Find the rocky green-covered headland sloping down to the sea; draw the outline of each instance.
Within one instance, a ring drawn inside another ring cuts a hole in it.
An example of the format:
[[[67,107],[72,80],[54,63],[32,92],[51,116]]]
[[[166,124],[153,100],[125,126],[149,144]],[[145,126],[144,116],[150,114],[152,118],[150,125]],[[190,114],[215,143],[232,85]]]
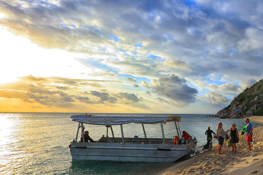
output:
[[[263,79],[244,89],[234,97],[231,103],[219,110],[211,117],[219,118],[244,118],[247,116],[263,116]]]

